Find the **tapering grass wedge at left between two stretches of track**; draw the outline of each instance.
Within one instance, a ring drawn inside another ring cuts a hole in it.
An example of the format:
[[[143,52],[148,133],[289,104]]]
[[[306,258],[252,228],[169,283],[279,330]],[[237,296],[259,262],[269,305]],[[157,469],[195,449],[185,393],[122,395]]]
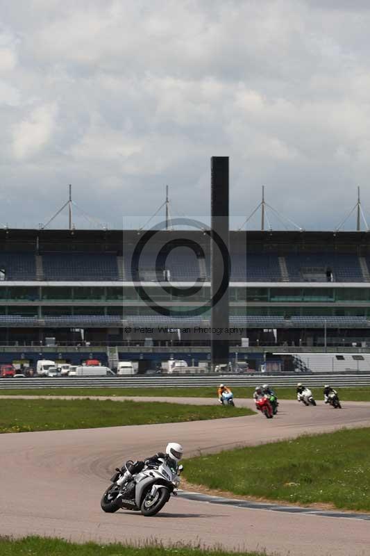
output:
[[[1,400],[0,433],[153,425],[252,415],[246,408],[114,402],[112,400]]]

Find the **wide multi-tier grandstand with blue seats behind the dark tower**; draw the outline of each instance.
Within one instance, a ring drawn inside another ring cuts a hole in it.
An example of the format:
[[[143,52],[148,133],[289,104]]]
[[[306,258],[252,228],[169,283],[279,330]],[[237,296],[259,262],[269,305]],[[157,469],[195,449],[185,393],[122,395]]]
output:
[[[48,342],[74,362],[107,346],[148,366],[209,359],[209,335],[196,327],[210,326],[210,238],[149,235],[132,261],[144,231],[1,230],[1,361],[35,359]],[[230,259],[230,326],[240,329],[230,354],[257,361],[276,346],[367,350],[366,232],[231,231]]]

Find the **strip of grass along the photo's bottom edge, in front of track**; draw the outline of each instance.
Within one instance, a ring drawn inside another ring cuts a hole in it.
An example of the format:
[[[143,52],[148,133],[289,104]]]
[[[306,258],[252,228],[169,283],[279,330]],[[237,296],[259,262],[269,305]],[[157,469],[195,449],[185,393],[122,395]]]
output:
[[[44,539],[26,537],[12,540],[0,537],[1,556],[265,556],[255,552],[224,552],[223,550],[201,550],[174,546],[165,548],[158,545],[125,546],[120,543],[85,543],[77,544],[61,539]]]

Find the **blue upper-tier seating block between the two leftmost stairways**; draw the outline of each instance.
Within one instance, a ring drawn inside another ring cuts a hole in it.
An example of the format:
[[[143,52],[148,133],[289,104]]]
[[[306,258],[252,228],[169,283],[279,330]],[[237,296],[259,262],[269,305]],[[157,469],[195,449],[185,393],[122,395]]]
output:
[[[45,280],[113,281],[118,280],[117,257],[111,254],[44,254]]]

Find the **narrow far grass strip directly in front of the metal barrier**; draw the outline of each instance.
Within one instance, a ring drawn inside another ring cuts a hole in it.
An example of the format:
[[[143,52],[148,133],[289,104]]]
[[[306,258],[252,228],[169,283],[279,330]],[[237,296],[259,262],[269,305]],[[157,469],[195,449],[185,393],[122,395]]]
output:
[[[16,379],[15,379],[16,380]],[[32,384],[32,380],[31,384]],[[35,379],[37,381],[37,379]],[[60,379],[68,380],[68,379]],[[122,379],[124,381],[124,379]],[[297,378],[298,382],[298,378]],[[244,386],[237,386],[233,388],[232,382],[226,382],[230,388],[233,389],[235,398],[252,398],[254,388],[246,388]],[[106,396],[119,396],[119,395],[151,395],[155,397],[171,396],[178,398],[181,396],[190,398],[216,398],[217,388],[219,383],[215,382],[215,386],[205,388],[48,388],[48,389],[1,389],[0,395],[106,395]],[[258,383],[256,383],[256,386]],[[1,386],[1,379],[0,379]],[[274,387],[274,383],[271,382]],[[335,388],[335,384],[332,384]],[[317,400],[323,399],[323,387],[311,389],[314,398]],[[339,398],[344,402],[370,402],[370,387],[361,388],[337,388]],[[296,400],[296,389],[293,388],[277,388],[276,393],[280,400]]]

